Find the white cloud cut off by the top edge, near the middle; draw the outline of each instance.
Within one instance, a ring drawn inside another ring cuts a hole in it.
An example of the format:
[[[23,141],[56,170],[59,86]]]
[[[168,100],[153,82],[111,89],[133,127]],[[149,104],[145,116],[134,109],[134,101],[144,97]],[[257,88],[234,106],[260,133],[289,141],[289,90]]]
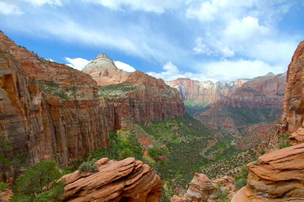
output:
[[[131,10],[143,10],[146,12],[163,13],[167,9],[177,8],[180,0],[82,0],[100,4],[114,10],[123,10],[129,7]]]

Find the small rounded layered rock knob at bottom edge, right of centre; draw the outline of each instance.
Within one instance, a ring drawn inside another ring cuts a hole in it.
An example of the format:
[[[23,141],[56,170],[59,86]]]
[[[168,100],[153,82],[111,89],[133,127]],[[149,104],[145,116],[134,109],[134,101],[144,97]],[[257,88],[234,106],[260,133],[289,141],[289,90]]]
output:
[[[190,187],[184,195],[174,195],[172,202],[205,202],[214,193],[214,186],[209,178],[202,173],[195,173],[193,180],[189,183]]]

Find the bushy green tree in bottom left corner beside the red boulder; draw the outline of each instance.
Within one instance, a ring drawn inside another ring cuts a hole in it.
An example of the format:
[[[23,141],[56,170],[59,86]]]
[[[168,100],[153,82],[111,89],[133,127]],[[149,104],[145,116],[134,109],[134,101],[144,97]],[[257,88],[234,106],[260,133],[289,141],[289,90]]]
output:
[[[65,180],[54,161],[41,161],[16,180],[10,202],[62,201]]]

